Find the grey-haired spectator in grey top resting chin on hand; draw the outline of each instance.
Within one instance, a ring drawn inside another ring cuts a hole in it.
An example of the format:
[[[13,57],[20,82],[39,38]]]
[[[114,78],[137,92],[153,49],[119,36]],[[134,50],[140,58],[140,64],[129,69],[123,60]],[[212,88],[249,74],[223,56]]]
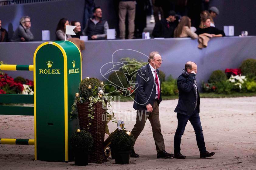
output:
[[[34,39],[34,35],[30,31],[31,20],[29,16],[23,16],[20,18],[19,27],[13,33],[12,42],[20,42],[20,41],[32,41]]]

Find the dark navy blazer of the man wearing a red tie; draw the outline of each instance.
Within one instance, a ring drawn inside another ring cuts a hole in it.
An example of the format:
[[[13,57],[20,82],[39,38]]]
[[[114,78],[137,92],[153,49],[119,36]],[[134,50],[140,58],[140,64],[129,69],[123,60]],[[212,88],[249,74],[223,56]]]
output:
[[[134,97],[133,108],[136,110],[147,110],[146,105],[150,104],[153,107],[155,97],[156,97],[156,83],[154,76],[152,74],[151,68],[149,64],[141,67],[136,75],[136,94]],[[159,70],[157,69],[157,75],[159,76]],[[159,80],[160,84],[160,98],[158,103],[162,101],[161,95],[161,80]]]

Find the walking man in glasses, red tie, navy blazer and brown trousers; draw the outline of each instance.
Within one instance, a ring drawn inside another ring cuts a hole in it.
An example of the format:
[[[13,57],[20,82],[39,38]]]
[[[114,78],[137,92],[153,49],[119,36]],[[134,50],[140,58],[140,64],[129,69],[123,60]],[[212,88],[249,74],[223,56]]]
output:
[[[158,108],[159,103],[162,101],[162,96],[161,80],[157,68],[161,66],[162,61],[161,55],[158,52],[151,52],[148,59],[149,63],[141,67],[137,72],[136,94],[133,102],[133,108],[137,110],[137,118],[131,134],[133,134],[136,141],[147,119],[149,119],[157,149],[157,158],[169,159],[173,157],[173,154],[165,151]],[[134,158],[140,157],[133,149],[130,156]]]

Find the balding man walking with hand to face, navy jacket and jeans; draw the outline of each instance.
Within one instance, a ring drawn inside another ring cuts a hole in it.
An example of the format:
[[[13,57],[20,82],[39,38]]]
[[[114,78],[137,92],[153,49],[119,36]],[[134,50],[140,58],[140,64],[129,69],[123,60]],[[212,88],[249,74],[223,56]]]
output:
[[[200,158],[213,156],[214,152],[207,152],[203,137],[202,125],[199,116],[200,96],[197,88],[195,75],[197,65],[194,62],[187,62],[182,70],[182,75],[178,77],[177,86],[179,90],[178,105],[174,112],[177,113],[178,127],[174,136],[174,158],[185,159],[186,156],[180,153],[181,137],[188,120],[195,130],[197,146],[200,151]]]

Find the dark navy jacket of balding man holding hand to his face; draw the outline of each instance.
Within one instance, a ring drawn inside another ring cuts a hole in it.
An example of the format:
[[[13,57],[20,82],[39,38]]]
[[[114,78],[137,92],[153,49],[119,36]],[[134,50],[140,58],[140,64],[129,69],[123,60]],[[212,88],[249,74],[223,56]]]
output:
[[[174,112],[184,115],[192,115],[195,109],[195,91],[193,89],[195,74],[182,74],[178,77],[177,86],[179,90],[179,101]],[[198,113],[200,112],[200,96],[197,88],[197,106]]]

